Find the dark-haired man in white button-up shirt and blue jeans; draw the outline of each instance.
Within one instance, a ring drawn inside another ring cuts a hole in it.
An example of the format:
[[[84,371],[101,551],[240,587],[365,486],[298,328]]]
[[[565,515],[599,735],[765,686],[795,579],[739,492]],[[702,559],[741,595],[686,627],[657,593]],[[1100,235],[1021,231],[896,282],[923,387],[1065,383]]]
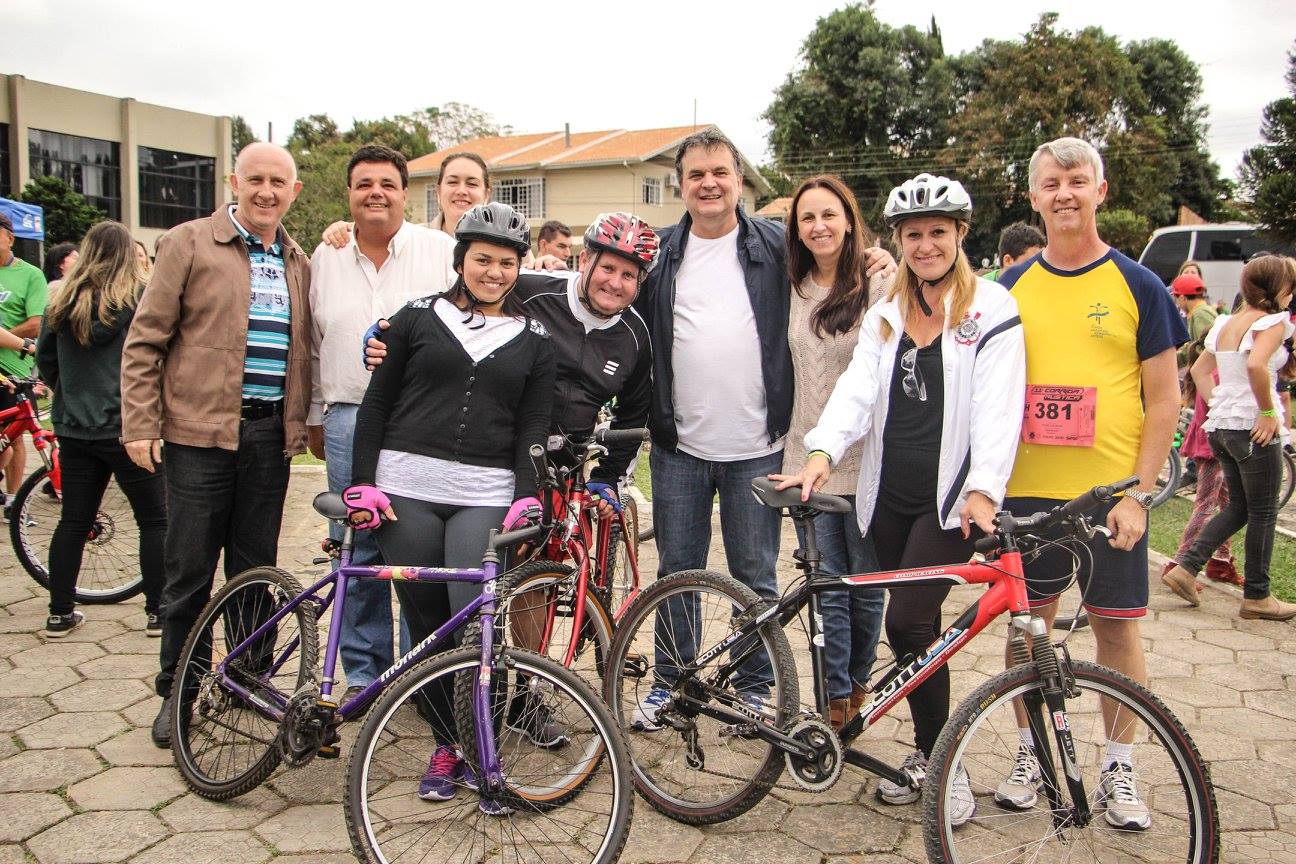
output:
[[[355,231],[341,249],[321,242],[311,255],[314,326],[306,431],[311,453],[328,466],[333,492],[351,483],[355,412],[369,383],[360,354],[365,329],[411,299],[445,291],[455,280],[455,240],[404,219],[410,185],[404,157],[385,146],[362,146],[346,176]],[[329,532],[341,540],[336,526]],[[358,531],[351,563],[377,558],[372,534]],[[345,698],[391,666],[390,583],[355,579],[347,585],[340,652],[349,690]]]

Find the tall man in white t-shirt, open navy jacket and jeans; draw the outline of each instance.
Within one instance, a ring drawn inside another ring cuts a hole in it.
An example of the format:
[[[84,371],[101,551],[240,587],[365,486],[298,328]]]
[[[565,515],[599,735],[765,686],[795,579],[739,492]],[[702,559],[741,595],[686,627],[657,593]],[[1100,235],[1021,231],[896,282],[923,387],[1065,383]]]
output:
[[[719,131],[684,139],[675,171],[687,214],[660,232],[657,268],[635,303],[653,339],[657,575],[706,566],[718,495],[730,573],[776,598],[779,513],[756,500],[752,481],[781,469],[792,417],[785,228],[741,210],[743,162]],[[877,269],[894,267],[881,250],[871,258]],[[674,667],[691,655],[689,617],[671,618],[661,624],[675,644],[658,652],[654,685],[635,716],[640,729],[658,727]],[[737,688],[759,702],[769,689],[767,658],[753,657]]]

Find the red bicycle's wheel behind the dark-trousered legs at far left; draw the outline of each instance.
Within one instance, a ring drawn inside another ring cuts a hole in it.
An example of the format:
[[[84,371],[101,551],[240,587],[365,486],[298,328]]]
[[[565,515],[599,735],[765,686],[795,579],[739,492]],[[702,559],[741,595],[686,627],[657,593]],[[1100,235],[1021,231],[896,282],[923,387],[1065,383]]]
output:
[[[44,465],[23,481],[13,497],[9,539],[22,569],[43,588],[49,588],[49,544],[62,516],[64,503]],[[86,540],[76,575],[78,604],[115,604],[144,589],[140,574],[140,527],[126,494],[115,479],[108,481],[95,526]]]

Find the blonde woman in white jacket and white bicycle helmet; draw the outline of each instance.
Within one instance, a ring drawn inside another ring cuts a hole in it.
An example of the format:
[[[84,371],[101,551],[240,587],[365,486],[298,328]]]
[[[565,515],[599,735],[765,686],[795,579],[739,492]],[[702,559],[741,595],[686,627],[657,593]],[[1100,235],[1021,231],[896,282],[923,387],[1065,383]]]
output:
[[[898,570],[967,560],[973,529],[993,530],[1021,430],[1025,348],[1016,302],[977,279],[963,251],[972,199],[962,184],[920,174],[892,190],[885,216],[902,253],[896,282],[864,315],[850,365],[805,438],[805,468],[781,486],[800,483],[809,497],[863,439],[859,527],[883,570]],[[947,593],[890,592],[886,640],[897,658],[936,640]],[[879,784],[884,802],[918,801],[949,702],[947,668],[908,696],[916,751],[902,767],[907,784]],[[976,806],[962,769],[955,789],[962,824]]]

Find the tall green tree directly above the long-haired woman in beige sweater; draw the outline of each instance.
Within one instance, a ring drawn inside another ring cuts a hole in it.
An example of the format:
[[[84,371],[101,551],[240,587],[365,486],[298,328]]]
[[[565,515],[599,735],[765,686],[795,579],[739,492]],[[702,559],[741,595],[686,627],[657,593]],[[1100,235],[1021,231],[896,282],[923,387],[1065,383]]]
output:
[[[925,32],[892,27],[870,0],[816,22],[763,117],[778,171],[840,174],[876,220],[892,187],[933,167],[954,109],[934,19]]]

